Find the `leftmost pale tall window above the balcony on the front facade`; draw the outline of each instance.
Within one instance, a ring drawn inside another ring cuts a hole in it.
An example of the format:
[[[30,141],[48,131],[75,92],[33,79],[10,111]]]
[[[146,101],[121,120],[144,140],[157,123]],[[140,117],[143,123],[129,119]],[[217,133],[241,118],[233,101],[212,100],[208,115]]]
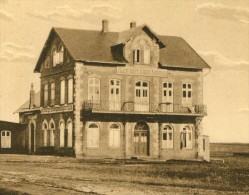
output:
[[[100,103],[100,79],[90,78],[88,80],[88,100]]]

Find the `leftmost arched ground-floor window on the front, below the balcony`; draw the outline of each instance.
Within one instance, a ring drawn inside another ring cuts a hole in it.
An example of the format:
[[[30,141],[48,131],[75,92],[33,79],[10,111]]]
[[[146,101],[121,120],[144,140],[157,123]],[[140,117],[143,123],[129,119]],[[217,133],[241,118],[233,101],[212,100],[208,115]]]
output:
[[[87,146],[99,147],[99,126],[91,123],[87,129]]]

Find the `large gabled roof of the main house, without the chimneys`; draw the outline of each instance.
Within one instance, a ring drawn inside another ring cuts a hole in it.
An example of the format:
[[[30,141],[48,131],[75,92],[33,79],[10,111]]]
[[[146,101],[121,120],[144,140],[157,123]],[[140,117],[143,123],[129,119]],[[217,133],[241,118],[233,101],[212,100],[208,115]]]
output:
[[[54,35],[57,35],[61,39],[69,54],[76,61],[126,64],[126,59],[121,57],[116,50],[120,50],[121,48],[116,48],[115,46],[124,44],[137,30],[145,31],[159,44],[159,63],[162,67],[192,69],[210,68],[210,66],[182,38],[158,36],[152,32],[147,25],[142,25],[122,32],[107,33],[95,30],[52,28],[34,71],[40,72],[40,66],[46,55],[47,46],[51,44]]]

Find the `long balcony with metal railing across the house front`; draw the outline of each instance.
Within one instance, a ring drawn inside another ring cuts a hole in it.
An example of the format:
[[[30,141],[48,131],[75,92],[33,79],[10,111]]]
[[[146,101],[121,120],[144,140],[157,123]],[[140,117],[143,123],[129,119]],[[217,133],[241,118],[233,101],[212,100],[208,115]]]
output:
[[[123,114],[207,115],[206,105],[185,106],[172,103],[141,104],[133,101],[123,103],[109,101],[93,103],[91,100],[87,100],[83,103],[83,111]]]

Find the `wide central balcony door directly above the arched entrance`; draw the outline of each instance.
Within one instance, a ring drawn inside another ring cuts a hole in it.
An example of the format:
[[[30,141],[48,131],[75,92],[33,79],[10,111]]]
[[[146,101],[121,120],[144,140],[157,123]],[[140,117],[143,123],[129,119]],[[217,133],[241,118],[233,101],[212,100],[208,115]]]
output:
[[[136,82],[135,86],[135,111],[149,111],[149,83]]]

